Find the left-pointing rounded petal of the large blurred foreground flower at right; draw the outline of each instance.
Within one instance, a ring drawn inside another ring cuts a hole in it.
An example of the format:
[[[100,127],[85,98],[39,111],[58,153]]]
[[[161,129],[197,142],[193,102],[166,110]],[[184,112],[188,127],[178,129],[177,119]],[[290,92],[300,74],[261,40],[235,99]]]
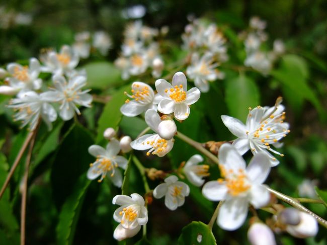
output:
[[[226,198],[227,187],[218,181],[209,181],[202,188],[202,195],[210,201],[220,201]]]

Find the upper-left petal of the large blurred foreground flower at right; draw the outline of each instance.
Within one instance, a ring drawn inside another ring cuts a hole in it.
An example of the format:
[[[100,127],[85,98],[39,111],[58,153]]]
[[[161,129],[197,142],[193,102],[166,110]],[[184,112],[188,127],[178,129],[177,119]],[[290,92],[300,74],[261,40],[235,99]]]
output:
[[[234,173],[237,173],[240,169],[244,170],[246,168],[246,162],[243,157],[238,153],[236,148],[229,143],[224,143],[220,146],[218,158],[221,165],[227,170],[233,170]]]

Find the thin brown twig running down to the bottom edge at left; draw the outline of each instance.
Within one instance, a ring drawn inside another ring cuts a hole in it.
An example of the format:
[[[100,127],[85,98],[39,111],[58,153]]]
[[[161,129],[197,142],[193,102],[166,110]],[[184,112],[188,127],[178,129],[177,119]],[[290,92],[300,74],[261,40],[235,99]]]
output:
[[[27,156],[26,156],[26,164],[25,164],[25,172],[23,176],[23,185],[22,185],[22,205],[21,205],[21,245],[25,245],[25,228],[26,228],[26,199],[27,199],[27,181],[28,181],[28,173],[30,169],[30,163],[31,163],[31,157],[33,152],[33,147],[35,143],[36,138],[36,131],[33,134],[30,148],[28,150]]]

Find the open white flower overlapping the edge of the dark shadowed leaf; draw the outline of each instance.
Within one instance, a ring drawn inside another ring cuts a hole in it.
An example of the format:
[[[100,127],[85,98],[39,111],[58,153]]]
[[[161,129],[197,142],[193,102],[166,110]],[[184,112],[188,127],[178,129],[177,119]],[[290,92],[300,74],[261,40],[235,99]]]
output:
[[[90,169],[87,173],[88,179],[94,180],[101,176],[98,182],[101,182],[106,176],[110,177],[112,183],[121,187],[123,183],[123,177],[118,167],[126,169],[128,160],[120,155],[117,155],[120,151],[119,141],[112,139],[106,149],[100,145],[91,145],[89,147],[89,153],[97,157],[93,164],[90,164]]]

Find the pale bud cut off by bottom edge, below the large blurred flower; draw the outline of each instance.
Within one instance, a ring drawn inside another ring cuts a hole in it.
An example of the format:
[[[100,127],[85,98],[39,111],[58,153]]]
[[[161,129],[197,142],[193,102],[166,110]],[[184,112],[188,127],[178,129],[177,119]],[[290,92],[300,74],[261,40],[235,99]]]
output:
[[[248,239],[252,245],[276,245],[273,231],[268,225],[256,222],[250,226]]]

